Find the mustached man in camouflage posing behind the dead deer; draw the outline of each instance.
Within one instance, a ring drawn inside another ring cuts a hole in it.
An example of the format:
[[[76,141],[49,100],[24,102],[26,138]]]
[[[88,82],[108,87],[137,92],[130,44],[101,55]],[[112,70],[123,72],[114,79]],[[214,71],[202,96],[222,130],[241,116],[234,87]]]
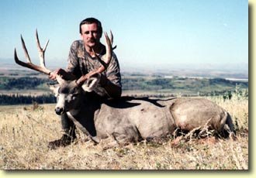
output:
[[[80,23],[79,32],[81,40],[76,40],[71,45],[67,69],[56,70],[50,74],[50,79],[54,80],[59,74],[65,80],[77,80],[78,86],[81,86],[87,80],[86,74],[101,67],[102,63],[99,62],[97,56],[102,58],[106,54],[106,46],[100,43],[102,37],[101,22],[95,18],[84,19]],[[122,85],[119,63],[115,53],[112,53],[106,70],[99,75],[99,87],[96,88],[95,93],[103,98],[119,98],[122,93]],[[61,125],[64,135],[61,139],[49,142],[50,148],[70,145],[76,138],[74,123],[67,118],[66,114],[61,115]]]

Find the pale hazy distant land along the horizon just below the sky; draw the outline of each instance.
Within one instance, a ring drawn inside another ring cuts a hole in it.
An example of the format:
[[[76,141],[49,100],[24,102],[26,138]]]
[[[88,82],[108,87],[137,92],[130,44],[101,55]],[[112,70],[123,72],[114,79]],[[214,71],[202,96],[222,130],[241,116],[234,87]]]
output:
[[[25,60],[25,59],[22,59]],[[65,68],[67,60],[46,61],[51,70]],[[29,70],[20,67],[12,58],[0,59],[0,74],[9,70]],[[33,59],[33,63],[39,60]],[[179,77],[220,77],[220,78],[248,78],[248,63],[140,63],[126,64],[119,61],[122,74],[145,74]],[[32,72],[33,70],[30,70]]]

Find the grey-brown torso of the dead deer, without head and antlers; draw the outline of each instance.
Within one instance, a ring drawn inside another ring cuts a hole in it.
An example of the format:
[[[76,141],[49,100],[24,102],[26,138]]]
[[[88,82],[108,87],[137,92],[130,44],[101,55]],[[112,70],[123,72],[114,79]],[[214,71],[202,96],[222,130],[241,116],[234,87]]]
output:
[[[83,94],[82,94],[83,95]],[[161,138],[175,129],[191,131],[209,128],[221,132],[224,125],[234,126],[230,115],[220,106],[203,98],[120,98],[99,101],[86,98],[67,111],[68,117],[95,142],[112,136],[118,142]]]

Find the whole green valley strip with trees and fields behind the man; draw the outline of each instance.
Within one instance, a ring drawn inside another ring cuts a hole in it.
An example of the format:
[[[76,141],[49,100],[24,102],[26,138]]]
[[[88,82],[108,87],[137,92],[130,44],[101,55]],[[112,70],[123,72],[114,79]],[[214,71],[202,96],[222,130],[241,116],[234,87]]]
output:
[[[19,74],[0,76],[0,104],[31,104],[34,101],[55,103],[48,84],[54,83],[42,75]],[[230,96],[232,92],[248,95],[248,82],[209,77],[165,77],[164,74],[122,75],[123,95],[155,96]]]

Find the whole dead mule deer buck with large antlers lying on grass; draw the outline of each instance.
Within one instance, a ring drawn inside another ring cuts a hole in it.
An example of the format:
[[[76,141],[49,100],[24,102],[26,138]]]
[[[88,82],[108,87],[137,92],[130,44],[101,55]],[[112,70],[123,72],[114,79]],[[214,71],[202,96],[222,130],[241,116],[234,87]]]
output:
[[[116,142],[139,142],[144,139],[162,138],[172,135],[177,129],[192,132],[209,128],[220,133],[228,130],[235,134],[230,114],[213,101],[206,98],[140,98],[123,96],[118,100],[90,98],[99,84],[99,73],[106,70],[111,59],[113,36],[107,33],[106,56],[102,67],[85,76],[87,80],[81,86],[75,80],[64,80],[57,76],[57,85],[50,87],[57,97],[55,112],[67,113],[68,118],[93,142],[112,137]],[[44,53],[49,39],[42,48],[36,30],[36,44],[40,56],[40,66],[31,62],[26,45],[22,47],[27,62],[19,60],[16,49],[14,58],[17,64],[49,75],[52,71],[45,66]],[[95,55],[97,56],[97,55]],[[98,60],[99,57],[97,57]],[[79,79],[78,79],[79,80]]]

